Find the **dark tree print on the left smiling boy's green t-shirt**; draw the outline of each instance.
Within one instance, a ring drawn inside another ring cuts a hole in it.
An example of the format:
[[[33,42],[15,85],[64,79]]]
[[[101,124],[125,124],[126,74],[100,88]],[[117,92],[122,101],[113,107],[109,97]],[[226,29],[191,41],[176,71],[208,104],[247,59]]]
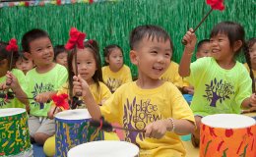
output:
[[[32,97],[34,98],[37,94],[47,91],[54,91],[54,85],[51,83],[43,84],[41,83],[35,83],[32,91]],[[32,101],[32,105],[39,106],[39,109],[43,109],[44,105],[43,103]]]

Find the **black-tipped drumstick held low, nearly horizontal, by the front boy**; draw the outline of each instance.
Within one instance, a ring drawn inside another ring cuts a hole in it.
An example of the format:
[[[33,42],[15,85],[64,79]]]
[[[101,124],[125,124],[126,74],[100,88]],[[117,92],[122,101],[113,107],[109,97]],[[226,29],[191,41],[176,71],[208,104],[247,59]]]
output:
[[[122,131],[145,132],[144,130],[125,129],[122,127],[112,126],[111,124],[109,124],[105,121],[102,121],[102,124],[100,124],[100,121],[91,120],[89,125],[92,127],[95,127],[95,128],[100,128],[100,130],[103,130],[103,131],[112,131],[113,129],[115,129],[115,130],[122,130]]]

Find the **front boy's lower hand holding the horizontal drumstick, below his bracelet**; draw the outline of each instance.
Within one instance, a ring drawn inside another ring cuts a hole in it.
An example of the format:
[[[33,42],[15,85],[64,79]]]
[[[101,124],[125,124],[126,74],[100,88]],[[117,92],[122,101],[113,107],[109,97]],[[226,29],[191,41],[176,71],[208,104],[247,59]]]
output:
[[[167,131],[167,120],[156,121],[145,128],[145,136],[153,138],[161,138]]]

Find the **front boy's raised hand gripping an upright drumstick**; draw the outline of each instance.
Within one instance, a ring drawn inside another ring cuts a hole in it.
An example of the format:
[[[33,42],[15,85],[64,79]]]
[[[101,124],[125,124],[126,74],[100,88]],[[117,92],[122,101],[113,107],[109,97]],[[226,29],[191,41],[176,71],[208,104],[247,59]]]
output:
[[[73,77],[73,93],[82,93],[83,97],[86,97],[86,95],[90,93],[89,84],[86,80],[81,78],[80,75]]]

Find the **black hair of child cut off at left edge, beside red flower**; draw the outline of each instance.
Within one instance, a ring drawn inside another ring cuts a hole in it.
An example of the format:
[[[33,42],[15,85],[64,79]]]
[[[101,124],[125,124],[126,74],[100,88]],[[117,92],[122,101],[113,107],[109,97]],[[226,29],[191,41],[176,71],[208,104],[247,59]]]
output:
[[[0,41],[0,61],[7,59],[8,61],[8,67],[11,67],[11,70],[15,67],[15,63],[17,60],[18,51],[13,51],[13,61],[12,65],[11,64],[11,58],[12,58],[12,53],[6,50],[8,43],[4,41]]]

